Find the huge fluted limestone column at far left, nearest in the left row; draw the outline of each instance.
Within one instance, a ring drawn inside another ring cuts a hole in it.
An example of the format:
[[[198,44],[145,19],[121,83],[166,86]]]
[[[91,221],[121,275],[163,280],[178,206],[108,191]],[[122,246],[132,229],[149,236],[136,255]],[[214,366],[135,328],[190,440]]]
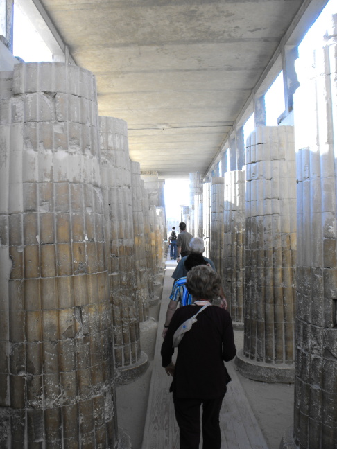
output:
[[[18,64],[1,101],[0,446],[116,448],[96,83]]]

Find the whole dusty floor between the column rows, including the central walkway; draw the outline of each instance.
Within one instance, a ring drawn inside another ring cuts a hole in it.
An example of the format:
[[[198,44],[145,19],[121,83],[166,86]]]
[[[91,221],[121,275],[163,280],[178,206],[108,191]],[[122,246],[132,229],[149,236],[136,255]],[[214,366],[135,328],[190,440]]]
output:
[[[133,449],[179,448],[173,402],[168,393],[171,378],[162,369],[160,358],[174,267],[175,261],[168,257],[161,307],[152,310],[159,326],[150,368],[132,384],[117,388],[119,425],[130,435]],[[241,349],[243,332],[234,333],[236,348]],[[293,421],[293,385],[254,382],[237,373],[233,362],[227,367],[232,382],[221,410],[222,448],[279,449],[282,434]]]

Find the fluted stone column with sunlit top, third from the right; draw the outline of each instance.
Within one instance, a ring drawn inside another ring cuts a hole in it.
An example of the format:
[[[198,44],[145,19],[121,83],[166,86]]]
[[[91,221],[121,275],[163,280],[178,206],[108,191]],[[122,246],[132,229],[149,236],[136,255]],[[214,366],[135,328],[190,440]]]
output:
[[[225,173],[223,290],[234,328],[243,329],[245,279],[245,172]]]

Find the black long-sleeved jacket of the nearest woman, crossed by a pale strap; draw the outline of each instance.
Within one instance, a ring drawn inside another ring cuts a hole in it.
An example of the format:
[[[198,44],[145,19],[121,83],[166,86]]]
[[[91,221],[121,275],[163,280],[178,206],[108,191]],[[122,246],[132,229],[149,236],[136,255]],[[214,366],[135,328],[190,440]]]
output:
[[[201,306],[184,306],[175,311],[162,344],[162,366],[171,363],[173,334]],[[236,354],[232,319],[227,310],[207,307],[197,317],[178,346],[175,375],[170,387],[177,398],[217,398],[226,392],[223,361]]]

